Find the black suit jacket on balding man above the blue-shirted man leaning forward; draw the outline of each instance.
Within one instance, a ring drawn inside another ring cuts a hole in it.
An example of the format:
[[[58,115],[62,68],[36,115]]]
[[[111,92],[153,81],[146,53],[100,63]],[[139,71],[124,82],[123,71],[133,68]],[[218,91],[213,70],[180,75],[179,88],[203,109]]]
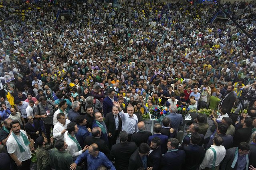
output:
[[[101,138],[86,136],[85,138],[85,146],[90,146],[91,144],[96,143],[99,146],[99,151],[103,152],[106,156],[109,156],[109,147]]]

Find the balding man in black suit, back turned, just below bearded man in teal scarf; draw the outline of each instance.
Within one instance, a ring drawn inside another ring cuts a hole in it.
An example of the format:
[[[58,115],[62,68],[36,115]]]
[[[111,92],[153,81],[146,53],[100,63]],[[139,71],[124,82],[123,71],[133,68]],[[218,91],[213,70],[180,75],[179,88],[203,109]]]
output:
[[[91,144],[96,143],[99,146],[99,151],[103,152],[106,156],[109,156],[109,147],[105,143],[105,140],[101,139],[101,128],[93,128],[92,135],[93,136],[86,136],[85,146],[90,146]]]

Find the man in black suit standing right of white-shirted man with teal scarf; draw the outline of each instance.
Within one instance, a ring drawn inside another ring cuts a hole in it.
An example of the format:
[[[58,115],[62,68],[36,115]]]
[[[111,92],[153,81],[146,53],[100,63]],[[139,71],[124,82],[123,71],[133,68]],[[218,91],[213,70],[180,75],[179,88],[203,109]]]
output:
[[[40,124],[37,120],[34,120],[32,116],[27,117],[28,123],[26,123],[25,128],[27,134],[30,135],[30,138],[36,141],[38,136],[42,135]]]

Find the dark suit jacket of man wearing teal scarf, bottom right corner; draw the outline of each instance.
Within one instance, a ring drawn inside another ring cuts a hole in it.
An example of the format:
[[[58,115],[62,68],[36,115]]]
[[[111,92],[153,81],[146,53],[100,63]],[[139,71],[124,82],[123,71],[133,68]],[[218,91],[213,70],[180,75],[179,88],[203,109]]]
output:
[[[231,168],[231,165],[232,165],[234,157],[235,157],[236,148],[237,147],[230,148],[230,149],[226,150],[226,156],[224,157],[224,159],[222,160],[222,163],[221,163],[221,170],[236,170],[237,166],[235,166],[234,168]],[[248,153],[248,156],[249,156],[249,160],[250,160],[250,152]],[[250,164],[249,164],[249,166],[250,166]]]

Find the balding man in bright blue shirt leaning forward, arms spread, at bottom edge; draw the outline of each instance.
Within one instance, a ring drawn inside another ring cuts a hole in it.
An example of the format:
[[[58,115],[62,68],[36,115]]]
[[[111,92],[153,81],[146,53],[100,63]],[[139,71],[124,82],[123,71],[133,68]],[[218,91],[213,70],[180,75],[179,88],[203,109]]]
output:
[[[97,170],[97,168],[101,165],[106,166],[110,170],[115,170],[115,166],[105,154],[99,151],[98,145],[95,143],[91,144],[88,150],[77,157],[75,162],[71,164],[70,169],[75,170],[77,164],[85,159],[87,160],[87,170]]]

